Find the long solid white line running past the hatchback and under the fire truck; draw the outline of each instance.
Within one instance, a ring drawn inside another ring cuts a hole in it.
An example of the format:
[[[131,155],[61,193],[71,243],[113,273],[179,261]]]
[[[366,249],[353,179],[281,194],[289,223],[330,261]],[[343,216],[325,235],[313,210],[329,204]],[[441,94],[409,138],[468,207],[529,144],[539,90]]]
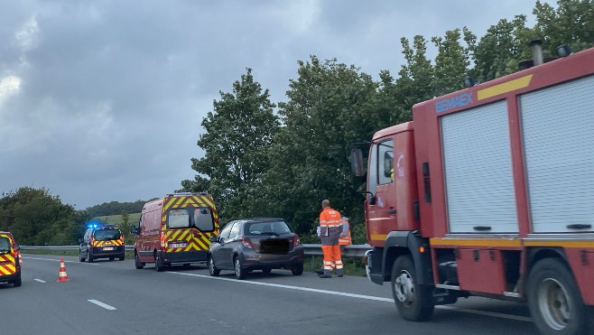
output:
[[[323,293],[323,294],[332,294],[332,295],[341,295],[341,296],[347,296],[347,297],[350,297],[350,298],[373,300],[373,301],[376,301],[376,302],[390,302],[390,303],[394,303],[394,300],[393,299],[382,298],[382,297],[377,297],[377,296],[372,296],[372,295],[345,293],[345,292],[338,292],[338,291],[327,291],[327,290],[320,290],[320,289],[316,289],[316,288],[291,286],[291,285],[283,285],[283,284],[271,284],[271,283],[251,282],[251,281],[246,281],[246,280],[237,280],[237,279],[231,279],[231,278],[213,277],[213,276],[210,276],[210,275],[188,274],[188,273],[183,273],[183,272],[168,272],[167,274],[190,275],[190,276],[193,276],[193,277],[224,280],[224,281],[227,281],[227,282],[236,282],[236,283],[242,283],[242,284],[254,284],[254,285],[262,285],[262,286],[280,287],[280,288],[286,288],[286,289],[290,289],[290,290],[307,291],[307,292],[313,292],[313,293]],[[467,313],[470,313],[470,314],[492,316],[492,317],[501,318],[501,319],[510,319],[510,320],[515,320],[515,321],[532,322],[532,319],[531,318],[527,318],[527,317],[524,317],[524,316],[518,316],[518,315],[504,314],[504,313],[499,313],[499,312],[477,311],[477,310],[471,310],[469,308],[462,308],[462,307],[455,307],[455,306],[435,306],[435,308],[441,309],[441,310],[455,311],[455,312],[467,312]]]

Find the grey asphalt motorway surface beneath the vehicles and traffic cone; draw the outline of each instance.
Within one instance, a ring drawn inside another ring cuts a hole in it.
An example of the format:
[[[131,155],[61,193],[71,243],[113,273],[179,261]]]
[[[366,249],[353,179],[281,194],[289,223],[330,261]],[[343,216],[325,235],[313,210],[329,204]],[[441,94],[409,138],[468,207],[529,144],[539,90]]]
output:
[[[23,255],[23,286],[0,284],[1,334],[534,334],[527,308],[471,297],[403,321],[389,285],[274,270],[237,281],[203,265],[157,273],[134,260]]]

